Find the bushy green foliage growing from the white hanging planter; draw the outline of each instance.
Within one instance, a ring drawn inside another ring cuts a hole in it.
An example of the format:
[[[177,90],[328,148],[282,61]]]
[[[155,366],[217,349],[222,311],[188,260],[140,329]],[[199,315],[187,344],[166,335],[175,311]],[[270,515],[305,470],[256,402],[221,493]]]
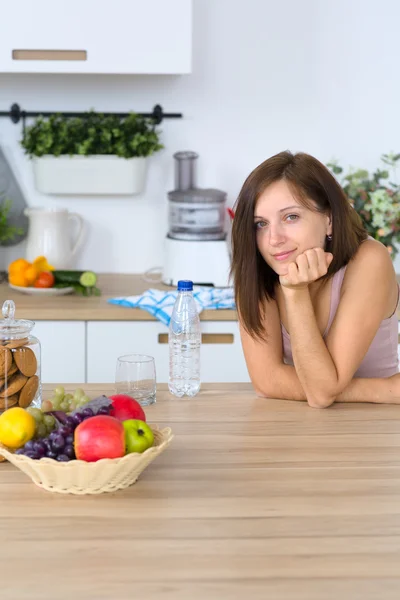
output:
[[[82,117],[37,117],[25,129],[21,146],[30,157],[79,154],[150,156],[163,148],[151,119],[130,113],[127,117],[90,111]]]

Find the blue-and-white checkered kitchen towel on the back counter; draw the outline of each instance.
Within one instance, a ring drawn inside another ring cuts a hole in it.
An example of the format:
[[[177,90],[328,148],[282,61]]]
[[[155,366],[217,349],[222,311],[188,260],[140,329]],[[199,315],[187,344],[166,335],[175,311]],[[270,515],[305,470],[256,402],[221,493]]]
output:
[[[141,296],[111,298],[108,302],[130,308],[142,308],[165,325],[169,325],[177,295],[177,291],[165,292],[150,289]],[[233,288],[193,286],[193,297],[199,313],[205,309],[235,308]]]

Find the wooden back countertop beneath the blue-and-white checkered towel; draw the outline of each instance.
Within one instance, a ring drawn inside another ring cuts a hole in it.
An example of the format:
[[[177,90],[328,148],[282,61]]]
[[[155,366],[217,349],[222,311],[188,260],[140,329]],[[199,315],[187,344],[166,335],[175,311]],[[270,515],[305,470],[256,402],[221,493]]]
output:
[[[98,287],[102,295],[82,298],[67,296],[29,296],[11,289],[7,283],[0,284],[0,303],[14,300],[16,316],[33,321],[156,321],[155,317],[140,308],[124,308],[109,304],[109,298],[137,296],[149,288],[174,290],[163,284],[144,281],[141,275],[100,274]],[[236,321],[235,310],[204,310],[202,321]]]

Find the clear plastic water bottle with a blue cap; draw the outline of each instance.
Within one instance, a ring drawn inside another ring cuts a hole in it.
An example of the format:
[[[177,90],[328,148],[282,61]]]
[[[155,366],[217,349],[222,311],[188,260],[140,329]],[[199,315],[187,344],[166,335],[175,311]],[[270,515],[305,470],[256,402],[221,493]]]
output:
[[[200,390],[201,329],[192,281],[178,281],[168,342],[169,391],[178,397],[195,396]]]

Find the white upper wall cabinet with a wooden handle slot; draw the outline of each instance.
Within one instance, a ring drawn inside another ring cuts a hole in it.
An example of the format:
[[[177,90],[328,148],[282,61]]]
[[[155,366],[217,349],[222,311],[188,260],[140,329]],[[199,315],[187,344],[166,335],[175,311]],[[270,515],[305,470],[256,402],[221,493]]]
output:
[[[0,73],[191,71],[192,0],[19,0],[2,22]]]

